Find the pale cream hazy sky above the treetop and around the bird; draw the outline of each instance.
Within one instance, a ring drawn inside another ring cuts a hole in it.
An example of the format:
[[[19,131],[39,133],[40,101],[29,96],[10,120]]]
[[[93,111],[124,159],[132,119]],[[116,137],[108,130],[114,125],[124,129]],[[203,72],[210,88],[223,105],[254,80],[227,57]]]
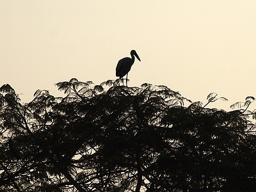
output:
[[[116,79],[118,60],[136,60],[129,86],[164,84],[193,101],[209,93],[227,108],[256,97],[256,1],[0,0],[0,86],[22,102],[55,83]],[[256,105],[255,105],[256,108]]]

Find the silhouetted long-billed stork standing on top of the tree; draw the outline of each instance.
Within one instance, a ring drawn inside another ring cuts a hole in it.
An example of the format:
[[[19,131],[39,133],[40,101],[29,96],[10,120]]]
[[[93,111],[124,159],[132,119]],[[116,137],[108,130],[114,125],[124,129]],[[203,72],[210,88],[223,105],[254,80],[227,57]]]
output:
[[[116,77],[119,77],[119,79],[124,79],[123,77],[126,75],[126,86],[127,86],[127,78],[128,73],[131,70],[131,67],[135,61],[134,56],[140,61],[140,57],[138,56],[137,52],[135,50],[131,51],[132,58],[122,58],[118,61],[116,65]],[[124,81],[123,81],[124,84]]]

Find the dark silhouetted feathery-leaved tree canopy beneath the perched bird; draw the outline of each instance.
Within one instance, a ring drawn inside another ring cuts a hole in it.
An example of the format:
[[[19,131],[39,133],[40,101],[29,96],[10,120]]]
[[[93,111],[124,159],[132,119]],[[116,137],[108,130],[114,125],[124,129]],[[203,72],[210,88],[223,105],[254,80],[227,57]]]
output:
[[[21,104],[0,88],[2,191],[255,191],[254,97],[207,108],[166,86],[57,83]],[[106,90],[105,90],[106,89]],[[249,101],[248,101],[249,100]]]

